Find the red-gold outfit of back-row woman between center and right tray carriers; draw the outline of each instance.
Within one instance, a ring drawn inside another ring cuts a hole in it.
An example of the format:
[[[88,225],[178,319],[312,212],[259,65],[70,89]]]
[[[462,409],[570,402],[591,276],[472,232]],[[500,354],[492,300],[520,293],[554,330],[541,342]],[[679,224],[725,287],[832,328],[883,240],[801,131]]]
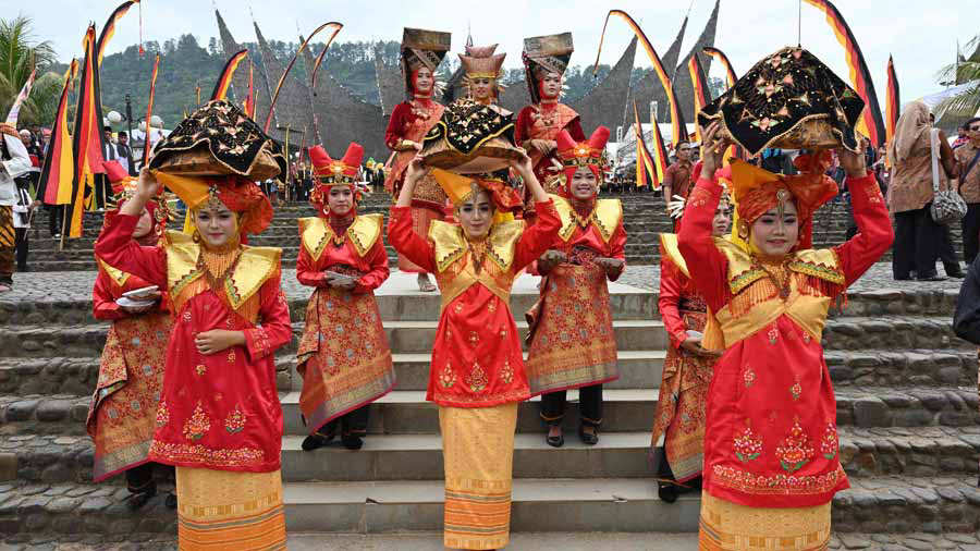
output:
[[[527,374],[532,394],[618,379],[616,339],[605,269],[596,257],[626,260],[626,231],[618,199],[598,199],[579,215],[552,196],[562,222],[550,248],[567,261],[541,280],[541,297],[527,314],[531,326]],[[624,265],[625,267],[625,265]],[[616,277],[618,274],[615,274]]]

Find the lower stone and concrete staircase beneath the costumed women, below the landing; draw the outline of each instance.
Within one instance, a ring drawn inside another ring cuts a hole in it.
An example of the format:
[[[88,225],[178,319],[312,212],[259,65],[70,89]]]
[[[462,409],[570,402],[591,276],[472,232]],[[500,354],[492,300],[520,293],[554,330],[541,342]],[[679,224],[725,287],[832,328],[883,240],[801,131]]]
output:
[[[537,400],[519,407],[514,455],[515,532],[693,532],[699,500],[657,498],[647,452],[666,345],[657,311],[658,270],[630,267],[611,285],[623,377],[607,385],[600,443],[574,436],[576,393],[561,449],[543,442]],[[980,414],[976,348],[950,328],[956,284],[890,282],[879,265],[829,320],[826,359],[837,394],[841,457],[850,490],[834,500],[834,530],[975,532],[980,528]],[[130,512],[121,478],[91,483],[84,430],[107,325],[90,316],[94,272],[16,274],[0,295],[0,539],[169,541],[175,514],[156,498]],[[512,294],[518,320],[536,280]],[[277,354],[285,434],[282,474],[291,532],[438,531],[442,454],[425,387],[439,298],[394,272],[378,302],[399,384],[372,406],[359,452],[299,449],[296,340]],[[309,290],[283,274],[302,330]],[[523,320],[518,322],[526,331]],[[835,540],[836,541],[836,540]]]

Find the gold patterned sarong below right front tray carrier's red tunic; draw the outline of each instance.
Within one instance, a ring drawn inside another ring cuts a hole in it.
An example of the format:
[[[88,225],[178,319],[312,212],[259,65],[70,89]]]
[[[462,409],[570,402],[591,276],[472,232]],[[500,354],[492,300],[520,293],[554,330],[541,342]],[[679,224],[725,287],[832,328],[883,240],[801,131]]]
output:
[[[831,502],[812,507],[749,507],[701,493],[700,551],[822,551]]]

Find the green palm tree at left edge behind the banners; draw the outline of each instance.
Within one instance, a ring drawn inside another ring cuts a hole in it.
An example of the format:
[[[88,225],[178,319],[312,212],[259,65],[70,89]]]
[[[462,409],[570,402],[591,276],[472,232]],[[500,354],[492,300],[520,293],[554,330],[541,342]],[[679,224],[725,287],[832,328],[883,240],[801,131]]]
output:
[[[48,70],[57,62],[48,40],[36,41],[32,20],[20,15],[0,19],[0,119],[5,118],[17,94],[37,70],[30,97],[21,107],[20,123],[51,124],[58,109],[61,76]]]

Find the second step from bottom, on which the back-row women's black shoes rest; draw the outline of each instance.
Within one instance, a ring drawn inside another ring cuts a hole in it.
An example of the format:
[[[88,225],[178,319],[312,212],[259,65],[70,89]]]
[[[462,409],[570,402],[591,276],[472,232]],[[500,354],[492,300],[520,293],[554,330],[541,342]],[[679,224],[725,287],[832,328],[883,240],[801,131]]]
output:
[[[75,424],[82,427],[82,423]],[[935,477],[977,475],[980,429],[955,427],[841,427],[841,462],[849,476],[901,475]],[[305,436],[282,439],[282,476],[286,481],[440,480],[443,477],[442,439],[438,432],[370,434],[360,451],[339,441],[305,452]],[[650,478],[650,432],[603,432],[593,446],[583,444],[575,428],[565,432],[565,445],[552,448],[544,433],[515,437],[515,478]],[[91,480],[93,443],[87,434],[0,436],[0,454],[12,454],[16,479],[37,483]],[[115,477],[111,483],[124,483]]]

